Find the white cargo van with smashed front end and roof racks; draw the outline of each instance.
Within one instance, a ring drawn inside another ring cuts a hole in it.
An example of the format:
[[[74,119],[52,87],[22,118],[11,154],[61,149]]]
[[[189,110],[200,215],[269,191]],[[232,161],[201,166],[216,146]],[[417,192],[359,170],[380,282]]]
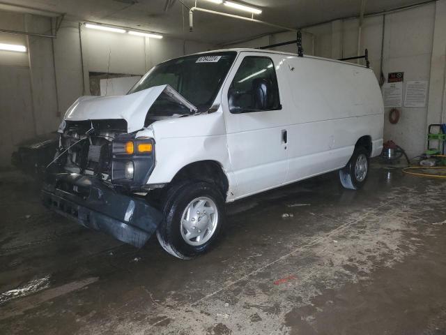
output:
[[[383,146],[373,71],[331,59],[220,50],[152,68],[125,96],[79,98],[59,127],[43,201],[178,258],[210,248],[224,204],[339,170],[360,188]]]

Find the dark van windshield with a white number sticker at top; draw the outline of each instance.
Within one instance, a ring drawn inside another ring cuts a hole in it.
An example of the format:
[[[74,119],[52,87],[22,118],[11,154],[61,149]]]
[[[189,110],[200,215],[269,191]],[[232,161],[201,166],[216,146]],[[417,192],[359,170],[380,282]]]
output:
[[[169,84],[196,106],[198,112],[205,112],[215,100],[235,58],[236,52],[215,52],[166,61],[146,73],[128,94]]]

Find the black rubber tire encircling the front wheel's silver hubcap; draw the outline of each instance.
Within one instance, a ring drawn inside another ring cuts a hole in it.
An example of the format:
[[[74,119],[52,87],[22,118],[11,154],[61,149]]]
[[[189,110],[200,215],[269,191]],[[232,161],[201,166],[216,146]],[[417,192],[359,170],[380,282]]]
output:
[[[180,231],[183,212],[190,202],[196,198],[206,197],[217,207],[217,227],[206,243],[199,246],[187,244]],[[224,227],[224,198],[214,184],[204,181],[183,182],[172,186],[164,197],[164,220],[157,229],[156,236],[165,251],[183,260],[195,258],[206,253],[215,245]]]

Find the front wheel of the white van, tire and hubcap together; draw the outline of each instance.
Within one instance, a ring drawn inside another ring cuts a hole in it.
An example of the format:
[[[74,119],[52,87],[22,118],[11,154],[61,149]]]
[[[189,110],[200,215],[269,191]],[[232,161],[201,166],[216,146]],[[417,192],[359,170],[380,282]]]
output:
[[[217,187],[194,182],[172,188],[164,202],[157,239],[165,251],[182,259],[208,251],[222,232],[224,198]]]

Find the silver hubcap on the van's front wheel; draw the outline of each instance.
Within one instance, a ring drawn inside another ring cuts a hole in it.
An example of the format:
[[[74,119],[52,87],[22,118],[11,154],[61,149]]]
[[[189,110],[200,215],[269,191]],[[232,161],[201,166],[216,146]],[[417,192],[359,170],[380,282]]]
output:
[[[181,216],[181,236],[191,246],[201,246],[217,229],[218,210],[215,202],[206,197],[195,198]]]

